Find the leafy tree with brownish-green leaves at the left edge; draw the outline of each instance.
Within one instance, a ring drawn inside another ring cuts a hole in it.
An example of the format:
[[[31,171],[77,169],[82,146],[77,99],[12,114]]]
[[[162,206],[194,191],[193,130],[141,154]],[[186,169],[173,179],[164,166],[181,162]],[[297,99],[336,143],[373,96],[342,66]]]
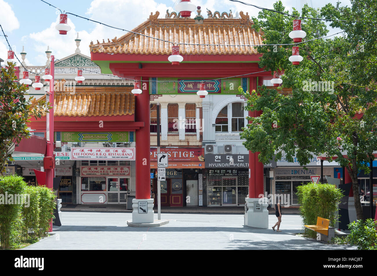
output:
[[[29,118],[40,118],[42,112],[51,108],[45,101],[26,100],[27,87],[17,82],[14,64],[0,70],[0,174],[5,172],[14,146],[21,139],[31,136],[27,123]]]

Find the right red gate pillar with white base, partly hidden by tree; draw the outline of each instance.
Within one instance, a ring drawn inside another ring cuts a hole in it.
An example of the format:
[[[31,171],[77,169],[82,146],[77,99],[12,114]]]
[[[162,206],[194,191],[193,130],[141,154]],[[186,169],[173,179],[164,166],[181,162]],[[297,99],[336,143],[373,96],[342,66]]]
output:
[[[257,90],[257,78],[250,78],[249,91]],[[261,111],[249,111],[250,117],[258,117]],[[259,162],[259,152],[249,151],[249,197],[245,204],[245,225],[268,228],[267,200],[264,196],[263,163]]]

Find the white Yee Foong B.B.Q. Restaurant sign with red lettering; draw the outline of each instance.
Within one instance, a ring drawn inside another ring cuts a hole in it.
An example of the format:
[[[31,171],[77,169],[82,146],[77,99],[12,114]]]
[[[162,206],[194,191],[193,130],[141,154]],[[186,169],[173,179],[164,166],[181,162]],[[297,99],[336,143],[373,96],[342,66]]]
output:
[[[72,160],[135,161],[135,148],[71,148]]]

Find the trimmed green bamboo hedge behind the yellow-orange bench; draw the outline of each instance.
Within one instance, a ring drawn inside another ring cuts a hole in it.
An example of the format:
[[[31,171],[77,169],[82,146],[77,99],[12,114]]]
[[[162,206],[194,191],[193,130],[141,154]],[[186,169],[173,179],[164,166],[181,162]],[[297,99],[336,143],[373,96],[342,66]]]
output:
[[[343,197],[342,191],[333,184],[308,183],[297,186],[300,215],[304,225],[317,224],[317,217],[330,220],[334,227],[338,221],[338,205]],[[305,235],[316,238],[316,232],[305,228]]]

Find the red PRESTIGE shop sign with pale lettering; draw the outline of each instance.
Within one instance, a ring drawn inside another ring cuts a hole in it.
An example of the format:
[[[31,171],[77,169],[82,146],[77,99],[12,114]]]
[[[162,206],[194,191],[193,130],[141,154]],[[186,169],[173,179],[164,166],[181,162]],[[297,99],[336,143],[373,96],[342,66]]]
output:
[[[169,169],[204,168],[204,148],[161,148],[169,158]],[[150,168],[157,168],[157,148],[150,149]]]

